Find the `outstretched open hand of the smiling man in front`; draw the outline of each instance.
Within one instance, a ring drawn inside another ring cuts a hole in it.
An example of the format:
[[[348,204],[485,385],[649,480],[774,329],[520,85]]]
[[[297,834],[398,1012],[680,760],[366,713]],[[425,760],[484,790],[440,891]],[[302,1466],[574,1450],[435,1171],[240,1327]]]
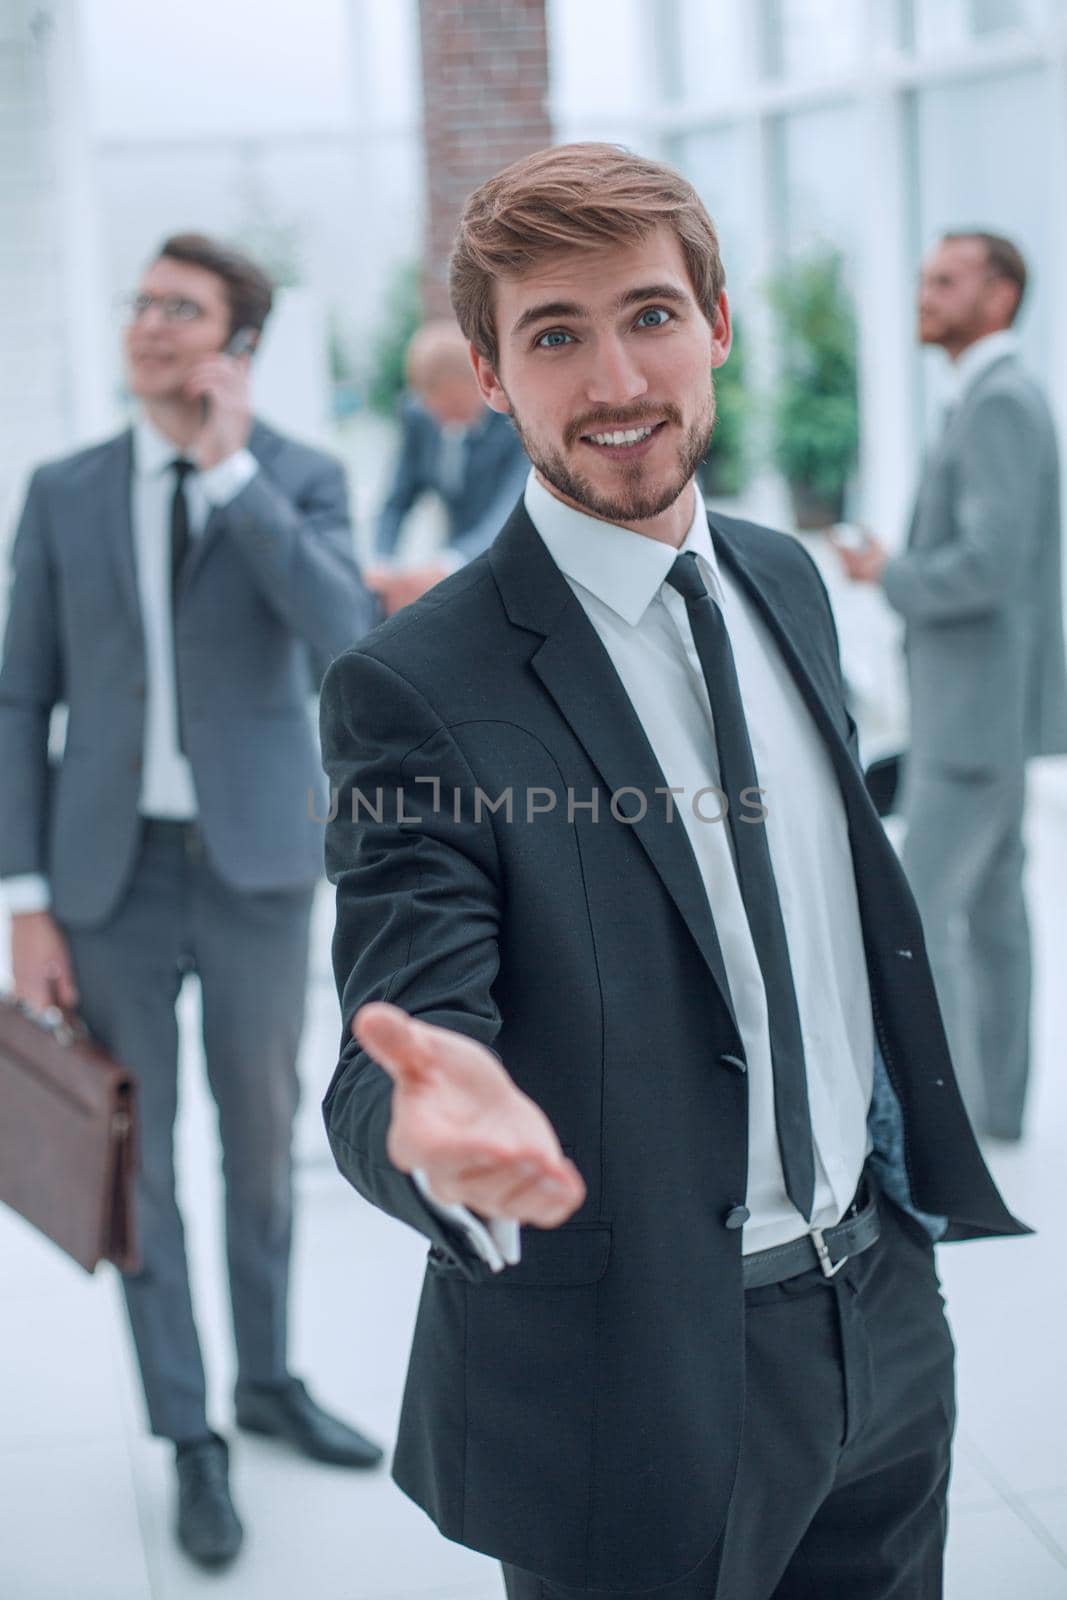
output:
[[[434,1197],[488,1218],[558,1227],[585,1186],[552,1123],[485,1045],[398,1006],[357,1011],[352,1032],[394,1080],[389,1158]]]

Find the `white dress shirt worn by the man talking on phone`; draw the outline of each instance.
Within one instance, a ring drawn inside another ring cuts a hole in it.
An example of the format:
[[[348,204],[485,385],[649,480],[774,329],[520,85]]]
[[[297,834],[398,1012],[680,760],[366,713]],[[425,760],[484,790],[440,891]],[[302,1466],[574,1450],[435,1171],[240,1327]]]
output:
[[[174,637],[171,619],[170,518],[174,496],[171,462],[182,451],[147,418],[133,427],[130,515],[133,552],[144,629],[144,747],[141,766],[142,816],[189,821],[197,814],[192,768],[178,742],[174,693]],[[238,450],[206,472],[186,477],[189,533],[197,539],[216,506],[226,506],[259,470],[250,450]],[[48,880],[40,874],[6,878],[5,899],[11,914],[46,910]]]

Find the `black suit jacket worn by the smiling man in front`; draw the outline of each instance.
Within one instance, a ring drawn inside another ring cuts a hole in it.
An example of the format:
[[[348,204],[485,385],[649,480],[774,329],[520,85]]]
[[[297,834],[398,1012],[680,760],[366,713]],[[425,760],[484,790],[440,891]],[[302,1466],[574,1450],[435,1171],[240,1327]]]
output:
[[[904,1117],[885,1158],[950,1237],[1021,1232],[973,1139],[915,906],[849,752],[819,578],[781,534],[728,518],[713,534],[841,782]],[[322,725],[346,1027],[387,998],[490,1045],[589,1189],[491,1277],[390,1166],[389,1078],[346,1043],[325,1104],[338,1163],[432,1242],[397,1482],[450,1538],[553,1581],[667,1584],[710,1552],[734,1478],[744,1294],[741,1234],[723,1222],[747,1162],[713,907],[681,821],[651,800],[669,778],[522,506],[486,557],[334,662]],[[624,787],[649,797],[632,824],[608,806]],[[477,789],[510,789],[512,821],[485,802],[478,814]],[[555,808],[528,822],[528,790]],[[592,794],[598,819],[581,808]]]

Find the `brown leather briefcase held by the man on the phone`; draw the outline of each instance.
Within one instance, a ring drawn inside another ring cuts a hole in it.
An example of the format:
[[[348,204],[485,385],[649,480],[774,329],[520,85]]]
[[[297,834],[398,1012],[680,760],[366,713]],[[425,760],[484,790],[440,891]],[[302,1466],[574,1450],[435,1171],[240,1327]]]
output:
[[[0,997],[0,1200],[93,1272],[138,1267],[136,1088],[80,1022]]]

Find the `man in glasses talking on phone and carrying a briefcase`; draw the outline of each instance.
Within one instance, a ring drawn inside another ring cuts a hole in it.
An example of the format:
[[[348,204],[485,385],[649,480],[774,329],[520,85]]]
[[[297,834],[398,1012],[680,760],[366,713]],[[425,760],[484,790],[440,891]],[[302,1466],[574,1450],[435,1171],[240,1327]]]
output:
[[[219,1114],[237,1424],[338,1466],[381,1451],[290,1373],[291,1126],[322,781],[309,698],[370,621],[338,462],[250,410],[272,286],[198,234],[130,302],[133,427],[40,467],[0,664],[0,877],[14,987],[138,1077],[141,1269],[123,1286],[178,1539],[237,1555],[226,1442],[174,1197],[176,1003],[200,979]],[[67,707],[61,760],[50,723]]]

